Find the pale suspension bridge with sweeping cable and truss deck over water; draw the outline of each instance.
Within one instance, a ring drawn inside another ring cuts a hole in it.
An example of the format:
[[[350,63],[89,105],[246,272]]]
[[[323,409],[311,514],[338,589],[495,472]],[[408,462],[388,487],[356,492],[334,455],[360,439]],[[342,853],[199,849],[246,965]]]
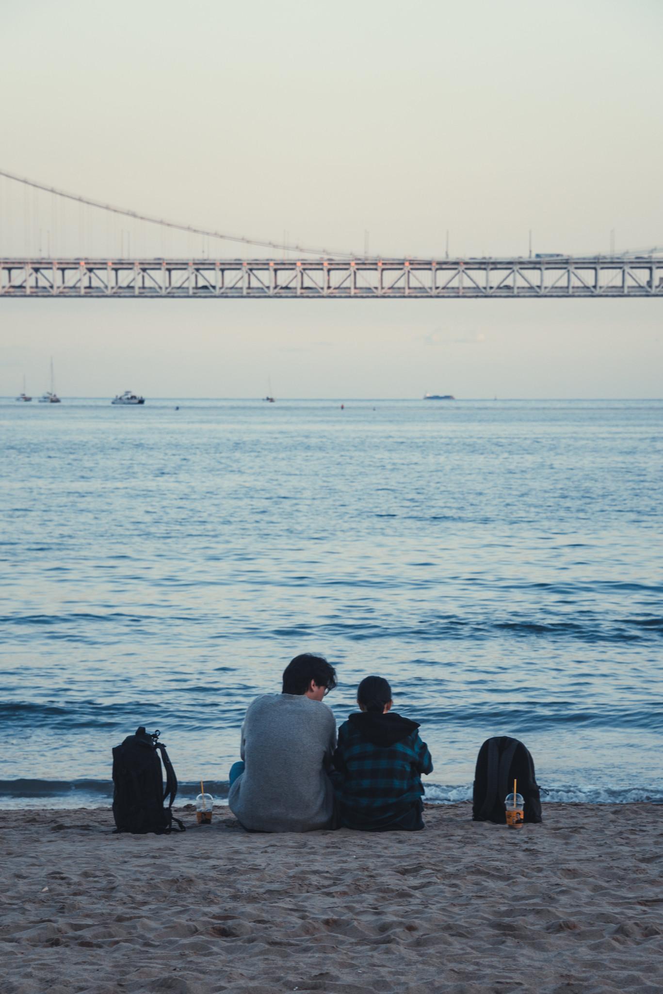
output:
[[[0,297],[5,299],[663,298],[660,248],[580,256],[362,256],[180,224],[4,170],[0,180],[24,191],[21,204],[20,197],[0,189]],[[78,232],[72,210],[78,213]],[[92,215],[105,219],[105,229],[91,223]],[[71,250],[73,230],[86,251]],[[155,233],[160,254],[154,252]],[[22,250],[16,250],[20,242]],[[214,257],[211,246],[219,242],[266,254]]]

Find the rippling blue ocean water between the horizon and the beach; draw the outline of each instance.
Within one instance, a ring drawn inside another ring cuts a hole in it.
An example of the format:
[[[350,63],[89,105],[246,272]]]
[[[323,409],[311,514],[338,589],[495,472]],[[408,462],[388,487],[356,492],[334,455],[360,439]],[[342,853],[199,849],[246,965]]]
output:
[[[390,680],[428,800],[505,734],[549,799],[663,799],[663,402],[5,399],[0,439],[0,806],[107,804],[138,725],[223,798],[302,651],[339,722]]]

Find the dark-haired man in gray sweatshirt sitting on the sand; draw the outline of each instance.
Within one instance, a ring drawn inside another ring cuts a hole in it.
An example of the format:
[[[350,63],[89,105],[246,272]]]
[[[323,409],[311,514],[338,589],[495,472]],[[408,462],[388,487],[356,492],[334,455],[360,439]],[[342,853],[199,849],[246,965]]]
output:
[[[231,769],[231,811],[251,832],[331,828],[334,788],[327,775],[336,721],[323,697],[336,671],[304,653],[286,666],[281,694],[249,705],[242,726],[242,762]]]

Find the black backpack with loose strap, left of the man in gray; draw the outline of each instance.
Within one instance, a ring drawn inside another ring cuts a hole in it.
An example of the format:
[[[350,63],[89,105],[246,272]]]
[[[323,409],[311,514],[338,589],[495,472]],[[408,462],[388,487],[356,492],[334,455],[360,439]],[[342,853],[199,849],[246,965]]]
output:
[[[173,831],[173,822],[179,825],[180,832],[185,831],[171,810],[177,793],[177,777],[166,746],[157,742],[158,738],[158,731],[150,734],[141,725],[135,736],[127,736],[122,745],[115,745],[112,750],[115,832],[164,835]],[[165,788],[159,752],[166,770]],[[166,798],[169,798],[168,807],[163,806]]]

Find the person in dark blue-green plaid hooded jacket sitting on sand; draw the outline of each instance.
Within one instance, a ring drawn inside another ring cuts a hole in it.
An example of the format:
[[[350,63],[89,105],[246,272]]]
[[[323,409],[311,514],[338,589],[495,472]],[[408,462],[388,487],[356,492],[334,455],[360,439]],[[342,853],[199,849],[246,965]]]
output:
[[[366,677],[357,691],[359,713],[339,729],[333,779],[341,828],[423,828],[421,774],[432,772],[432,760],[418,724],[393,712],[392,703],[387,680]]]

